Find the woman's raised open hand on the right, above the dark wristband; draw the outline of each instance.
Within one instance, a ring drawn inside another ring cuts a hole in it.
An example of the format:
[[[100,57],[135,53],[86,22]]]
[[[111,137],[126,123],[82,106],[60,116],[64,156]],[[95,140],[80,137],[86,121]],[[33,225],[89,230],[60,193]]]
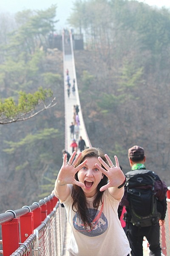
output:
[[[102,168],[102,166],[99,166],[97,163],[95,164],[95,166],[99,170],[101,170],[104,175],[106,175],[108,177],[108,183],[105,186],[102,186],[100,188],[100,191],[104,191],[105,189],[108,189],[110,187],[118,187],[125,180],[125,175],[122,172],[122,170],[120,169],[118,158],[116,156],[114,156],[115,163],[116,163],[116,166],[114,166],[110,157],[108,157],[107,154],[105,154],[105,157],[108,160],[110,167],[108,166],[107,163],[105,163],[104,160],[102,160],[101,157],[98,157],[98,160],[102,164],[102,166],[105,167],[105,169]]]

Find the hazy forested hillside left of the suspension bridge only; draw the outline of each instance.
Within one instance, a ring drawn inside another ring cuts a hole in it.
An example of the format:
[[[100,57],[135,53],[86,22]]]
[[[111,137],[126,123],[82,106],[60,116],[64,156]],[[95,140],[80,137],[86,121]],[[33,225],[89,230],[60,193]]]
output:
[[[62,52],[49,55],[46,50],[55,16],[55,6],[17,13],[14,20],[0,16],[1,101],[11,97],[17,104],[20,91],[35,93],[42,87],[51,89],[57,102],[27,121],[0,125],[0,212],[19,209],[49,195],[62,164]],[[43,105],[37,111],[41,108]],[[0,119],[2,115],[0,112]]]

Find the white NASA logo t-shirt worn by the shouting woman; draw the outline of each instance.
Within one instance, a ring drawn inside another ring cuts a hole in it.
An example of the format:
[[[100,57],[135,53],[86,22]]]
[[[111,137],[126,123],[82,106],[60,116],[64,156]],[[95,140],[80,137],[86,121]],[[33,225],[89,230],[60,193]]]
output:
[[[69,185],[72,191],[72,185]],[[68,246],[74,256],[127,256],[130,246],[125,231],[118,218],[119,201],[114,199],[108,189],[103,193],[103,204],[96,211],[93,198],[86,198],[88,210],[93,219],[93,230],[85,230],[77,212],[72,210],[71,192],[63,202],[67,219],[71,225],[71,240]]]

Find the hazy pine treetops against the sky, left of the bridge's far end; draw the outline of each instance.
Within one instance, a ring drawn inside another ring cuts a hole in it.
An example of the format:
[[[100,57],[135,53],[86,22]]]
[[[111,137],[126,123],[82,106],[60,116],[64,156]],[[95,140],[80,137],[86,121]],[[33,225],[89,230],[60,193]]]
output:
[[[11,32],[10,44],[7,49],[19,54],[24,49],[27,54],[32,54],[37,47],[47,44],[48,35],[54,31],[56,5],[52,5],[45,11],[26,10],[16,15],[20,25],[16,31]]]

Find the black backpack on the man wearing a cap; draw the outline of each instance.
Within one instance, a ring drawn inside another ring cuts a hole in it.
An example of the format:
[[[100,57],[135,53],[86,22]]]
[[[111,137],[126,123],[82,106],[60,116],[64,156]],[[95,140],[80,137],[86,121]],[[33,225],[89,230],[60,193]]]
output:
[[[155,225],[159,220],[154,185],[156,176],[153,172],[138,169],[126,174],[129,221],[137,227]]]

